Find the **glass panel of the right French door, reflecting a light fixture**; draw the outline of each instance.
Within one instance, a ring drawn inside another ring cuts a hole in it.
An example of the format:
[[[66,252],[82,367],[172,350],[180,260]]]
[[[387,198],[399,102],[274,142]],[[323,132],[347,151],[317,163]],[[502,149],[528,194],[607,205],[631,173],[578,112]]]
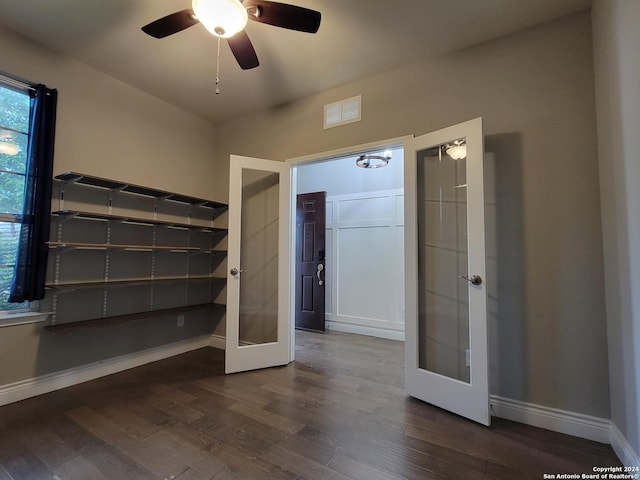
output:
[[[469,287],[460,278],[467,275],[466,147],[456,155],[452,145],[417,158],[418,366],[469,383]]]

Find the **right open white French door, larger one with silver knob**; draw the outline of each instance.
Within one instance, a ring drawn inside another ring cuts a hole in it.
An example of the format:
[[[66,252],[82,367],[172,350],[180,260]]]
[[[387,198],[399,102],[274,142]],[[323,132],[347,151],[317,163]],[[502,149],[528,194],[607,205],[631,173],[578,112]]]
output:
[[[407,393],[489,425],[482,119],[405,148]]]

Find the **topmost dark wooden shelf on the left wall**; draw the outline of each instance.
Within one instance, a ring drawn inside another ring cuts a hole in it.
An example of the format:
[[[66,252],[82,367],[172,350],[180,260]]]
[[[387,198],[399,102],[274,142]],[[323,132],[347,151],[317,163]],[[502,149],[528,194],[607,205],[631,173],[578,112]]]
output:
[[[144,195],[146,197],[162,198],[165,200],[171,200],[174,202],[188,203],[190,205],[198,205],[200,207],[211,208],[219,210],[220,213],[227,210],[227,205],[221,202],[213,200],[206,200],[204,198],[196,198],[188,195],[181,195],[179,193],[167,192],[165,190],[158,190],[155,188],[143,187],[141,185],[134,185],[128,182],[120,182],[118,180],[110,180],[101,177],[94,177],[93,175],[85,175],[84,173],[77,172],[65,172],[54,177],[56,180],[70,183],[80,183],[84,185],[90,185],[92,187],[107,188],[110,190],[117,190],[120,192],[135,193],[137,195]]]

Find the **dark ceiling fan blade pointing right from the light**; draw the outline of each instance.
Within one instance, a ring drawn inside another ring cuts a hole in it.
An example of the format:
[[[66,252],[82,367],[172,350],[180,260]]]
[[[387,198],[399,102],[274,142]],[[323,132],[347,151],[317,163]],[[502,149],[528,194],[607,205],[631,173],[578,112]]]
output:
[[[264,0],[245,0],[243,5],[249,18],[256,22],[307,33],[316,33],[320,28],[322,15],[315,10]]]

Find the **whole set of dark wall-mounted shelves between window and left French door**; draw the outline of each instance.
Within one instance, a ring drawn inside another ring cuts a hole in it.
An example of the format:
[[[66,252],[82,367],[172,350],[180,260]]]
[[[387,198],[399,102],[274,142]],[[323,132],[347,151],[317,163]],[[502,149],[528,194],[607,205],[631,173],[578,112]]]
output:
[[[48,242],[55,255],[55,270],[47,284],[53,307],[47,331],[72,333],[190,311],[208,315],[209,309],[224,308],[211,302],[226,284],[226,278],[212,273],[227,254],[216,248],[227,229],[213,226],[227,210],[226,204],[77,172],[65,172],[55,179],[59,206],[51,212],[58,221],[56,236]],[[71,202],[70,209],[65,209],[65,200]],[[100,236],[84,236],[93,230]],[[71,255],[69,250],[79,253]],[[89,277],[91,281],[77,281],[85,262],[92,262],[104,276],[96,273]],[[154,293],[153,288],[160,285],[164,288]],[[128,287],[136,289],[128,291]],[[74,309],[74,291],[81,296],[97,292],[102,296],[102,310],[74,312],[72,318],[58,319],[59,311]],[[142,292],[149,294],[149,303],[130,305],[130,297]],[[120,315],[91,318],[114,310]],[[83,314],[91,317],[80,320]]]

